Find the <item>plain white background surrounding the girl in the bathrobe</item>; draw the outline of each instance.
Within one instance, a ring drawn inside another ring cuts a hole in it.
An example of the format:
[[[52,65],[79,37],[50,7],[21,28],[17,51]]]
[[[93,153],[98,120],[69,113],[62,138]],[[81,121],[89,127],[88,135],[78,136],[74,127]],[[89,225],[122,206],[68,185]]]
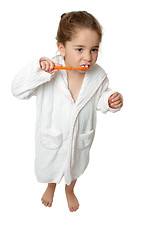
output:
[[[3,1],[0,6],[1,239],[160,239],[160,9],[158,0]],[[64,180],[52,208],[34,175],[35,98],[18,100],[11,82],[26,64],[56,54],[64,12],[86,10],[103,26],[98,63],[123,94],[115,114],[98,112],[91,160],[70,213]]]

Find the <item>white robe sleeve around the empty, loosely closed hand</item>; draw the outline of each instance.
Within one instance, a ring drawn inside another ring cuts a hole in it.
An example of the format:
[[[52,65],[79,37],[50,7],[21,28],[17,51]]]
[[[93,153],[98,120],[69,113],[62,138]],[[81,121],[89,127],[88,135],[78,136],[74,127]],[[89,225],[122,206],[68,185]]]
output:
[[[101,111],[102,113],[107,113],[108,111],[115,113],[115,112],[119,111],[121,108],[114,109],[114,108],[109,107],[108,99],[115,91],[111,90],[108,87],[108,85],[109,85],[109,80],[106,77],[102,83],[102,90],[101,90],[101,94],[100,94],[99,101],[97,104],[97,110]]]

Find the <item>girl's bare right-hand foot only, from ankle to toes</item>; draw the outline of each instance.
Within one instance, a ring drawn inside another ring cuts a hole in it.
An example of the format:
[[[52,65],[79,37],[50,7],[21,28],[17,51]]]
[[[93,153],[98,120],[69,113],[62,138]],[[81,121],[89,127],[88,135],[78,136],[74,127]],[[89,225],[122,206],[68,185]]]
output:
[[[66,191],[68,207],[71,212],[75,212],[79,208],[79,202],[73,191]]]

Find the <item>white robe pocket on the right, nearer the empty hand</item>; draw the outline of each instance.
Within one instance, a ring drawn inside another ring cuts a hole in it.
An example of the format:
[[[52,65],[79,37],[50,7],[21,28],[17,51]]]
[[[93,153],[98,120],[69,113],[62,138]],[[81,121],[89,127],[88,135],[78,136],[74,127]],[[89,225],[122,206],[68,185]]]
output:
[[[91,130],[89,133],[79,134],[77,139],[77,148],[84,149],[91,146],[94,139],[95,130]]]

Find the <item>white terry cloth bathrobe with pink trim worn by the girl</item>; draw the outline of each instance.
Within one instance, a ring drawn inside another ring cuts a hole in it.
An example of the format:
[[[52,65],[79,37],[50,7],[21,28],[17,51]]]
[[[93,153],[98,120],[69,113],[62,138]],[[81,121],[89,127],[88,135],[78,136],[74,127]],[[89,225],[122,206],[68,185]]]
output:
[[[55,63],[65,65],[57,56]],[[89,162],[96,129],[97,110],[116,112],[108,106],[113,91],[105,71],[97,64],[85,73],[74,102],[68,89],[67,72],[41,70],[39,59],[25,67],[12,82],[12,93],[20,99],[36,96],[35,174],[43,183],[65,184],[77,179]]]

